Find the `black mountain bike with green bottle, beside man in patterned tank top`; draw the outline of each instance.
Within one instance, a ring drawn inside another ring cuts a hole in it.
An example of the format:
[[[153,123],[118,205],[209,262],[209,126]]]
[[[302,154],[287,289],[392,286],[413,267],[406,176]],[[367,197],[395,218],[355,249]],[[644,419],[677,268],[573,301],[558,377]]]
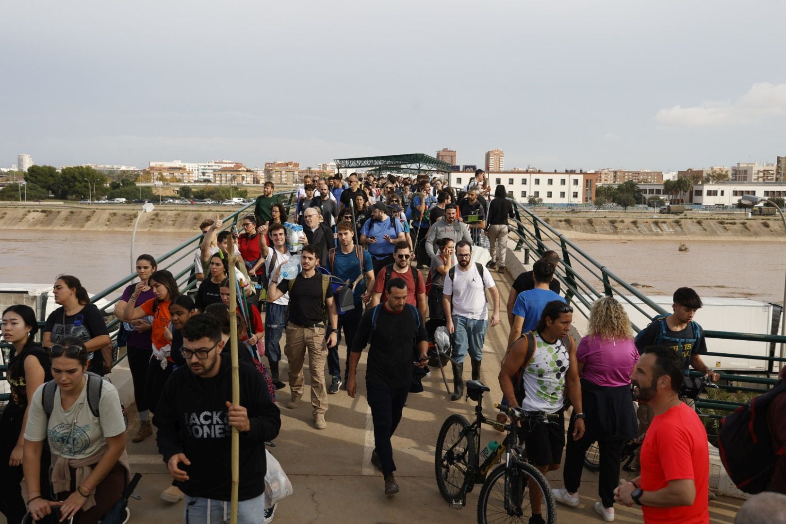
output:
[[[538,424],[554,423],[552,420],[557,418],[556,414],[525,412],[518,407],[495,404],[494,408],[501,409],[509,416],[510,423],[487,419],[483,416],[485,391],[489,391],[489,387],[479,381],[468,380],[466,398],[477,402],[475,421],[470,424],[464,416],[453,414],[439,430],[434,467],[439,493],[450,503],[450,508],[461,509],[466,505],[467,493],[476,484],[482,483],[477,511],[479,524],[528,522],[533,514],[532,509],[537,509],[537,506],[544,510],[542,515],[545,522],[555,524],[556,502],[549,482],[536,467],[527,462],[518,434],[520,424],[531,430]],[[479,463],[481,424],[507,432],[501,446],[483,464]],[[505,460],[492,470],[503,453]],[[534,489],[540,493],[534,493]],[[533,496],[536,500],[534,504]]]

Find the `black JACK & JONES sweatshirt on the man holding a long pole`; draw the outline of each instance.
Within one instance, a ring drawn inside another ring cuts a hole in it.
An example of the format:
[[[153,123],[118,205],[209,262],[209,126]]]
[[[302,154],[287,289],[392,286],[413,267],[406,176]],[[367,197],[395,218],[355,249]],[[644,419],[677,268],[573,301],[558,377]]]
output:
[[[240,497],[259,497],[265,490],[265,441],[281,429],[281,412],[270,398],[263,376],[241,362],[241,405],[248,409],[251,429],[240,434]],[[230,500],[232,490],[231,427],[226,401],[232,401],[230,352],[222,354],[217,376],[203,379],[183,366],[172,372],[163,387],[152,423],[158,428],[156,442],[164,463],[184,453],[190,466],[180,464],[189,475],[175,486],[190,497]]]

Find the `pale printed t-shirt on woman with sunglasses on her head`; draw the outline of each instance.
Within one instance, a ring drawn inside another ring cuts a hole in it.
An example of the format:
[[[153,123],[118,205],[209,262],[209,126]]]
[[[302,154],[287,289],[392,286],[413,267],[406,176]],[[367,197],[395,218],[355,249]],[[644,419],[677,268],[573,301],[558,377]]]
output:
[[[55,390],[52,415],[47,420],[41,398],[44,390],[42,384],[33,394],[24,438],[31,442],[41,442],[46,438],[52,453],[69,459],[86,459],[94,455],[106,444],[106,437],[115,437],[126,431],[117,390],[103,379],[101,387],[101,401],[98,405],[101,419],[93,416],[90,406],[87,405],[85,381],[79,398],[65,411],[61,405],[60,388]]]

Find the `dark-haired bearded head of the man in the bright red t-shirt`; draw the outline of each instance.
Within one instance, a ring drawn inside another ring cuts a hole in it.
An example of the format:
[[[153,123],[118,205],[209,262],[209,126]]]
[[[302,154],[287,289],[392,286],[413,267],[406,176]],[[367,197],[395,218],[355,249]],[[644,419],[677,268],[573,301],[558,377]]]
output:
[[[634,365],[630,383],[634,387],[634,399],[649,402],[677,396],[682,386],[685,360],[666,346],[648,346]]]

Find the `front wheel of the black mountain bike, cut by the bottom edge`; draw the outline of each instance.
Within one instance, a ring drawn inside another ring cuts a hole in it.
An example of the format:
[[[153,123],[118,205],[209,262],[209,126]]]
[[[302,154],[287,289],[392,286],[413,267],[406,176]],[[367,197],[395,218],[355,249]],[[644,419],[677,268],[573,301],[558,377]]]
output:
[[[540,496],[537,505],[544,522],[556,524],[556,502],[543,474],[531,464],[518,461],[510,466],[508,478],[505,471],[505,464],[501,464],[483,482],[478,499],[478,524],[527,524],[533,515],[533,495]]]

